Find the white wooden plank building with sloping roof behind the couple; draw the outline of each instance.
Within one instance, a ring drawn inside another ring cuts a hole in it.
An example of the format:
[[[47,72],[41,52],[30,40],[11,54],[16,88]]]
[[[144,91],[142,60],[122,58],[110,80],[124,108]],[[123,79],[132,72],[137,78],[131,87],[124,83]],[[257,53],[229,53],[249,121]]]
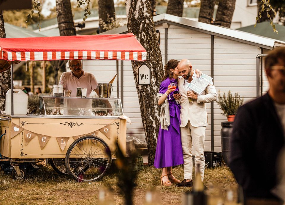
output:
[[[194,69],[213,77],[217,91],[238,92],[244,97],[244,102],[267,91],[267,79],[264,72],[260,75],[260,58],[257,55],[280,46],[282,42],[169,14],[161,14],[153,19],[160,32],[159,42],[164,64],[170,59],[189,59]],[[102,34],[121,33],[127,33],[126,26]],[[132,120],[132,124],[127,125],[127,134],[144,140],[131,62],[87,60],[83,65],[84,70],[92,72],[99,83],[108,83],[116,73],[116,63],[120,74],[119,96],[124,113]],[[115,84],[116,82],[113,83],[114,86]],[[116,96],[116,92],[117,88],[114,87],[112,95]],[[205,151],[221,151],[221,122],[227,120],[220,114],[216,102],[212,105],[208,103],[207,109],[209,125],[205,136]]]

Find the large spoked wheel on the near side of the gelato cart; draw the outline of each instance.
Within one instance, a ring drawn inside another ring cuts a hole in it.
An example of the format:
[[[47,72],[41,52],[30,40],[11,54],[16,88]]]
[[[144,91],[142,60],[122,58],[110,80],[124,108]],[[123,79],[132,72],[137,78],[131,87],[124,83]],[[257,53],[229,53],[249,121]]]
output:
[[[75,140],[66,152],[66,170],[77,181],[101,179],[110,168],[111,151],[104,140],[85,136]]]

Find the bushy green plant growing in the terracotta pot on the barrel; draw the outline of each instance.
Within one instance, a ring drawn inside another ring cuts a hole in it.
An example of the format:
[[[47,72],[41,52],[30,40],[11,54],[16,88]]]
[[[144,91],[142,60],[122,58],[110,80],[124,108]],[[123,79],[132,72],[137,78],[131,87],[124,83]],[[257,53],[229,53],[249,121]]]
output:
[[[235,96],[232,96],[231,91],[229,91],[227,95],[224,93],[224,95],[221,96],[219,90],[218,99],[219,101],[217,101],[217,104],[223,111],[221,114],[225,116],[236,114],[238,108],[243,104],[243,97],[240,98],[240,95],[238,93],[235,93]]]

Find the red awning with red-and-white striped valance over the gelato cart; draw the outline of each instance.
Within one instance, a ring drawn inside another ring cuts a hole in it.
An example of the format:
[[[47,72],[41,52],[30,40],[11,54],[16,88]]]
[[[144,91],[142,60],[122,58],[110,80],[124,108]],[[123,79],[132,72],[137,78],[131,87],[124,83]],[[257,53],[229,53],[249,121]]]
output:
[[[144,61],[146,50],[132,33],[0,38],[0,59],[7,61],[69,59]]]

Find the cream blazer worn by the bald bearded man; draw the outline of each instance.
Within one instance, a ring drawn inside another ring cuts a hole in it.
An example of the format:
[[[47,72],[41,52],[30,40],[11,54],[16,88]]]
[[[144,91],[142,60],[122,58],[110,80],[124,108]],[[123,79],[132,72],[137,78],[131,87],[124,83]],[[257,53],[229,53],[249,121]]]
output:
[[[180,127],[185,127],[190,120],[193,127],[202,127],[208,125],[208,115],[206,109],[206,103],[217,100],[217,91],[213,85],[213,81],[209,83],[202,95],[198,95],[197,100],[193,100],[190,104],[187,97],[187,91],[184,88],[184,78],[178,80],[179,93],[181,93],[181,113]]]

